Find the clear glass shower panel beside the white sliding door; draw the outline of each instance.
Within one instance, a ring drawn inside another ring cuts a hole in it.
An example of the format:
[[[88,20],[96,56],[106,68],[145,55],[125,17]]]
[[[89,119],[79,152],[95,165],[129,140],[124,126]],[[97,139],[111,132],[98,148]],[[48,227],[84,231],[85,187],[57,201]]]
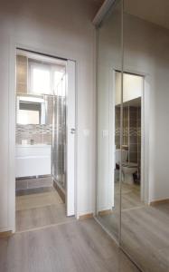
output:
[[[53,97],[52,175],[65,194],[66,191],[66,83],[65,75],[58,83]]]

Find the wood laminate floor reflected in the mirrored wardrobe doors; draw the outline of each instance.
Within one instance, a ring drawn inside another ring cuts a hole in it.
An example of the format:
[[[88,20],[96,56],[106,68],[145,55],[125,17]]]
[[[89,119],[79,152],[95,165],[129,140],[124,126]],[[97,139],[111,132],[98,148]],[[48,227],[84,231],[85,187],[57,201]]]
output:
[[[99,216],[101,224],[118,237],[119,191],[115,209]],[[147,206],[140,200],[139,186],[122,186],[122,247],[146,272],[169,272],[169,203]]]

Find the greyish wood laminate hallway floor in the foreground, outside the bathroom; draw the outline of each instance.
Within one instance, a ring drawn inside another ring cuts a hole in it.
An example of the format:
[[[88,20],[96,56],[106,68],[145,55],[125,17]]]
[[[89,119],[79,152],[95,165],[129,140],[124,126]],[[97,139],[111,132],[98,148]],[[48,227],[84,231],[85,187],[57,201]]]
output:
[[[0,271],[138,272],[94,219],[1,238]]]

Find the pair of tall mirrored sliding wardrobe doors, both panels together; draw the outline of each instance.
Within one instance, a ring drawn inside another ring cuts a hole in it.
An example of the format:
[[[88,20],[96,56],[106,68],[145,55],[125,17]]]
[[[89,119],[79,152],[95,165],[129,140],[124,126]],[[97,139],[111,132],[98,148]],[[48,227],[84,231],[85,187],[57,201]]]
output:
[[[148,10],[117,0],[98,26],[96,220],[141,271],[166,272],[169,31]]]

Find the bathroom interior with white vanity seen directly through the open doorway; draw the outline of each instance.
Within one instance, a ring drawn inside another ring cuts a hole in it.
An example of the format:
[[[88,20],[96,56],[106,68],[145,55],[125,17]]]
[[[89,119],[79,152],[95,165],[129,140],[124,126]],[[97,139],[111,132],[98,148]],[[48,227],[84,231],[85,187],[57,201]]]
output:
[[[66,62],[17,49],[16,231],[66,218]]]

